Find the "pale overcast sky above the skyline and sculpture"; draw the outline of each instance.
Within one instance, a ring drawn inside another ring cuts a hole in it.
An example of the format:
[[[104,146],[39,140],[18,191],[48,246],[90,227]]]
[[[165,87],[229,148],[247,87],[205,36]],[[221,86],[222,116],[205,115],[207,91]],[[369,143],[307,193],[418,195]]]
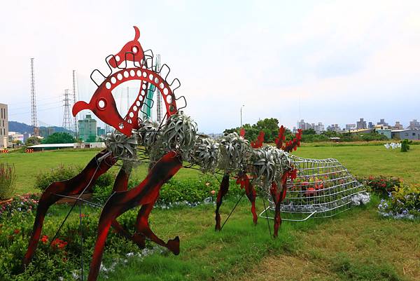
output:
[[[89,101],[90,72],[106,69],[137,25],[202,132],[239,126],[242,104],[244,123],[407,125],[420,119],[419,15],[416,0],[3,1],[0,102],[10,121],[31,123],[34,57],[38,119],[62,125],[72,69]]]

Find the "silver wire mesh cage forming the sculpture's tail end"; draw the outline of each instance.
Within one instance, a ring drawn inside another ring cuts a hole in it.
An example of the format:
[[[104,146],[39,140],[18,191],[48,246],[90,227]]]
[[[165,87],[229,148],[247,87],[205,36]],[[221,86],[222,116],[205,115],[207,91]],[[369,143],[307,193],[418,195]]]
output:
[[[349,210],[351,198],[365,192],[350,172],[336,159],[310,159],[289,155],[297,177],[287,182],[286,198],[281,203],[281,219],[306,221],[326,218]],[[269,206],[260,217],[274,219],[274,202],[267,194]]]

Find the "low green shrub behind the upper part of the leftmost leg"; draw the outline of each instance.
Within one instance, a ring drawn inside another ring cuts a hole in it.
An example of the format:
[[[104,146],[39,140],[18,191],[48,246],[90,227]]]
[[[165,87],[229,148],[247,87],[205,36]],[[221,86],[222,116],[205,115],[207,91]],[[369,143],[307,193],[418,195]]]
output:
[[[41,172],[41,174],[38,174],[35,178],[34,187],[35,189],[39,189],[40,191],[45,191],[45,189],[50,184],[52,184],[52,182],[65,181],[66,179],[71,179],[81,171],[82,168],[80,166],[59,165],[58,167],[53,168],[48,172]],[[114,178],[114,174],[111,172],[102,174],[95,182],[95,186],[99,186],[101,188],[110,186],[111,184],[113,184]]]

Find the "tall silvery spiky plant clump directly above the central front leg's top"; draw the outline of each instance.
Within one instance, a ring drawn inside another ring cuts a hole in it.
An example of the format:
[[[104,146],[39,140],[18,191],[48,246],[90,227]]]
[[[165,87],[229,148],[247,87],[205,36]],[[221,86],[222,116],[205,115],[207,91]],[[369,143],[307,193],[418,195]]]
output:
[[[162,144],[165,149],[176,151],[187,159],[194,147],[196,135],[197,123],[180,111],[168,118],[162,132]]]

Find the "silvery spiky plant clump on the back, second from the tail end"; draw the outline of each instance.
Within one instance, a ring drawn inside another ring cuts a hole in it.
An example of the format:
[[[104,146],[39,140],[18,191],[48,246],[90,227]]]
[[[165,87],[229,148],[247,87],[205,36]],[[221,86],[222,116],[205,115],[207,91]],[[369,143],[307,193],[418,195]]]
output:
[[[232,132],[219,139],[219,143],[221,156],[218,167],[225,172],[244,170],[251,151],[248,140]]]

